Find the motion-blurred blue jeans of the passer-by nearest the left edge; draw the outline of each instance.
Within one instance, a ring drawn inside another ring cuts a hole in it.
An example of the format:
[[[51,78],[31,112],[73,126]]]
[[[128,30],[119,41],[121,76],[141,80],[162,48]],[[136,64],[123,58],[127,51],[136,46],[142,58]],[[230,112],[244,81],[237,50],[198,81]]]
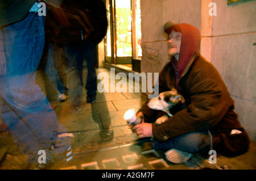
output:
[[[47,110],[49,102],[35,83],[44,47],[43,16],[30,12],[1,33],[7,70],[0,77],[2,120],[24,154],[38,155],[39,150],[49,154],[51,148],[62,153],[70,146],[70,138],[57,135],[67,130],[58,123],[55,111]]]

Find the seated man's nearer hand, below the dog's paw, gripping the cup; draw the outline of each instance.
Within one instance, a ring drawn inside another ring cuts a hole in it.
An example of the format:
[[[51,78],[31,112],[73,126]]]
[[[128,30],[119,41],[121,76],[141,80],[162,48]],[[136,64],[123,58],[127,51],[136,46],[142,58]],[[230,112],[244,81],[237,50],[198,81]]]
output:
[[[139,138],[152,137],[152,124],[151,123],[141,123],[133,127],[133,131],[138,134]]]

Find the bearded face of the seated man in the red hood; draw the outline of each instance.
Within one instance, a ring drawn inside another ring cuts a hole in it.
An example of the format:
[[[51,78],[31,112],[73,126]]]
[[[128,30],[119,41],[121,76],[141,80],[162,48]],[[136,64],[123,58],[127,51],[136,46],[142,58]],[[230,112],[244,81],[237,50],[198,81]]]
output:
[[[179,54],[180,45],[181,45],[181,32],[172,30],[172,32],[168,35],[167,45],[168,45],[168,54],[170,55]]]

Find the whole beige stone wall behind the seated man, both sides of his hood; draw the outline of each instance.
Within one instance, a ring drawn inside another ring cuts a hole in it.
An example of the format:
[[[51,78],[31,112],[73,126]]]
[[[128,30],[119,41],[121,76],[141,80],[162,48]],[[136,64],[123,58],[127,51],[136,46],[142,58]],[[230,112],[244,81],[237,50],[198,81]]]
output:
[[[216,16],[209,15],[211,2],[216,5]],[[141,0],[141,14],[141,71],[159,72],[168,62],[164,23],[196,26],[202,35],[201,54],[220,72],[242,126],[256,141],[256,1],[227,5],[223,0]]]

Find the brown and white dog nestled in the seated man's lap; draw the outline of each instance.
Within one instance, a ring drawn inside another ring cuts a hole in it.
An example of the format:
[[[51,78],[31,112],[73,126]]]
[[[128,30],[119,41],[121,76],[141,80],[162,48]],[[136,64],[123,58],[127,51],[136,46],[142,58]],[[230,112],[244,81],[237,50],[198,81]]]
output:
[[[162,124],[168,119],[168,117],[172,116],[170,112],[172,107],[176,106],[177,104],[184,103],[185,99],[183,96],[178,94],[176,89],[172,88],[171,91],[161,92],[158,97],[150,99],[147,106],[152,110],[161,110],[167,113],[167,115],[159,117],[155,121],[156,124]]]

